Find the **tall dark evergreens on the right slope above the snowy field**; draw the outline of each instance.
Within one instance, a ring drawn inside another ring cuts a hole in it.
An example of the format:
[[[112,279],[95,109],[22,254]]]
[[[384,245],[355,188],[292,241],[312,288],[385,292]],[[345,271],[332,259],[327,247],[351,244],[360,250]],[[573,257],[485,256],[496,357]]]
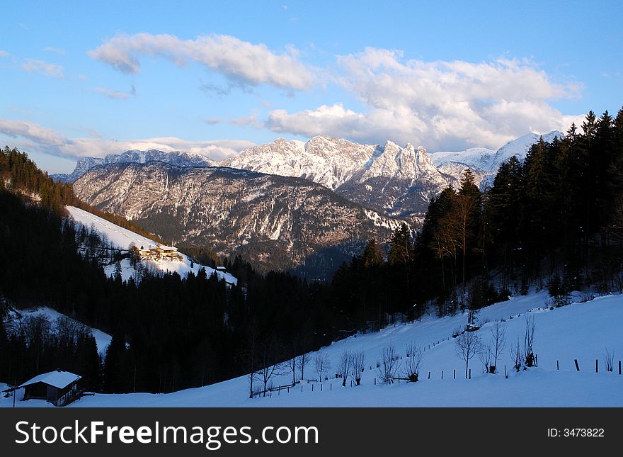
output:
[[[581,132],[540,140],[476,184],[467,169],[433,198],[421,230],[394,233],[387,259],[371,240],[338,270],[333,293],[359,325],[433,306],[473,311],[530,287],[623,290],[623,109],[591,111]]]

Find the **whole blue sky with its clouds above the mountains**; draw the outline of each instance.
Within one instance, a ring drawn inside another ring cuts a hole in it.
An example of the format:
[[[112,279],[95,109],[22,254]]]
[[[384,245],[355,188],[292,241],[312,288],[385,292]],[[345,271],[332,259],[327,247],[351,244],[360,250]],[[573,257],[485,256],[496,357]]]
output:
[[[619,1],[2,6],[0,142],[50,172],[276,137],[496,148],[623,104]]]

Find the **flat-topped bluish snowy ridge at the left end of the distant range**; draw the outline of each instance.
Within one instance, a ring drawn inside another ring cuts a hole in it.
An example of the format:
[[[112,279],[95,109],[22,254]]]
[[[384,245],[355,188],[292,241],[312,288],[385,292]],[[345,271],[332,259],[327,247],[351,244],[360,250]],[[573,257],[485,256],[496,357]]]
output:
[[[164,152],[158,149],[139,151],[132,149],[122,154],[108,154],[103,159],[86,157],[79,159],[76,168],[70,174],[52,174],[52,178],[63,182],[74,183],[88,170],[98,165],[108,164],[144,164],[147,162],[164,162],[178,167],[214,167],[216,162],[200,154],[190,152]]]

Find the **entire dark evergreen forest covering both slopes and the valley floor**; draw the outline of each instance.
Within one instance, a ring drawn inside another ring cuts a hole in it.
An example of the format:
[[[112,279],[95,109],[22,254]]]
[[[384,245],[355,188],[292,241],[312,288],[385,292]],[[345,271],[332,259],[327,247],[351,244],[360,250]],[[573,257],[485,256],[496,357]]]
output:
[[[240,257],[225,261],[235,286],[205,270],[146,273],[138,282],[107,277],[103,264],[129,254],[111,252],[65,217],[67,204],[92,210],[70,186],[8,148],[0,178],[2,315],[46,305],[113,335],[100,361],[84,327],[13,319],[0,326],[0,354],[8,354],[0,380],[11,383],[61,368],[84,373],[92,390],[170,392],[255,371],[396,316],[467,309],[471,318],[530,288],[548,288],[557,305],[588,286],[623,290],[623,110],[616,118],[589,113],[564,140],[540,141],[524,161],[505,162],[485,188],[466,171],[458,188],[430,202],[420,230],[404,225],[389,240],[371,239],[326,283],[258,274]],[[209,247],[185,249],[219,263]]]

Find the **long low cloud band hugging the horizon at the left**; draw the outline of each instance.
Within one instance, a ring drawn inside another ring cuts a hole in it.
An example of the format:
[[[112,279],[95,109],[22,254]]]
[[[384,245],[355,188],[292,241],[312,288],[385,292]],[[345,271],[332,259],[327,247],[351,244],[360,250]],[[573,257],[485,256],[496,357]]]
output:
[[[11,138],[8,141],[8,138]],[[28,121],[0,119],[0,140],[23,148],[61,157],[105,157],[128,149],[159,149],[165,152],[183,151],[202,154],[221,160],[237,154],[255,143],[246,140],[189,141],[177,137],[154,137],[139,140],[107,140],[95,135],[69,139],[55,130]]]

